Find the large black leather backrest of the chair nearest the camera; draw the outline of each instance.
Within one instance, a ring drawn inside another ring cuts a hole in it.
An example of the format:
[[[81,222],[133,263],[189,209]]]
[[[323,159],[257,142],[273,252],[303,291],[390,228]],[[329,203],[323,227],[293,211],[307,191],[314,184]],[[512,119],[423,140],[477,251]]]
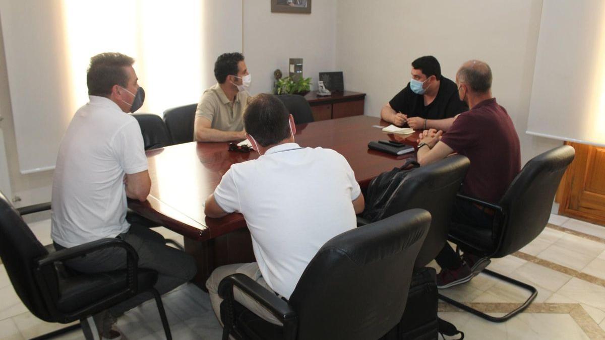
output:
[[[299,340],[378,339],[401,319],[431,215],[413,209],[327,241],[289,303]]]

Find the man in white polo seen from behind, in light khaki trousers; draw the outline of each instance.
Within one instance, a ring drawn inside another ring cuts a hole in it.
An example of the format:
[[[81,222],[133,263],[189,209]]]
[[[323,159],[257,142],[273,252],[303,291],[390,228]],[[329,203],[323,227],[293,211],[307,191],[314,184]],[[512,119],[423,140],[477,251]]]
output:
[[[330,238],[356,227],[364,197],[347,160],[323,148],[294,142],[294,119],[270,94],[249,100],[246,137],[261,155],[231,166],[206,200],[208,217],[241,212],[252,235],[256,263],[218,267],[206,281],[220,320],[220,281],[244,273],[290,298],[307,264]],[[257,315],[280,324],[263,306],[235,289],[235,299]]]

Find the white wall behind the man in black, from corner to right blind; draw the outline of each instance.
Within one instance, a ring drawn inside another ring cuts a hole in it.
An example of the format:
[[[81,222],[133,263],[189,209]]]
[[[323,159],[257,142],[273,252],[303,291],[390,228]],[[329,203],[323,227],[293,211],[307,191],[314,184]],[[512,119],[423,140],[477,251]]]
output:
[[[336,65],[345,87],[367,93],[365,114],[379,116],[408,81],[411,62],[431,54],[454,79],[468,59],[492,68],[492,93],[519,134],[523,163],[561,142],[525,134],[541,0],[339,0]]]

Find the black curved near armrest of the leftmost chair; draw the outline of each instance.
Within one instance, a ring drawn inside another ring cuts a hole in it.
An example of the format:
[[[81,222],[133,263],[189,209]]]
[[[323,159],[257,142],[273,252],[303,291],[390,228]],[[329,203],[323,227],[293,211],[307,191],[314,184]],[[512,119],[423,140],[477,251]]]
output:
[[[45,257],[39,258],[36,264],[38,272],[44,267],[51,266],[56,262],[70,260],[88,253],[94,252],[100,249],[106,249],[111,247],[119,247],[126,250],[126,273],[128,289],[132,292],[136,292],[138,286],[137,271],[139,269],[139,254],[134,248],[126,241],[120,240],[119,238],[102,238],[101,240],[92,241],[79,246],[58,250],[53,253],[49,253]]]

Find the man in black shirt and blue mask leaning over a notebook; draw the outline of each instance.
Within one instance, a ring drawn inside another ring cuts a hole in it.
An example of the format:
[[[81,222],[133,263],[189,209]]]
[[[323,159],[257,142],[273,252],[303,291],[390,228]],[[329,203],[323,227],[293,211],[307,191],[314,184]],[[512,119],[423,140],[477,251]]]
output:
[[[382,119],[397,126],[407,123],[415,130],[447,131],[458,114],[468,111],[456,83],[441,75],[435,57],[414,60],[411,75],[408,85],[382,107]]]

